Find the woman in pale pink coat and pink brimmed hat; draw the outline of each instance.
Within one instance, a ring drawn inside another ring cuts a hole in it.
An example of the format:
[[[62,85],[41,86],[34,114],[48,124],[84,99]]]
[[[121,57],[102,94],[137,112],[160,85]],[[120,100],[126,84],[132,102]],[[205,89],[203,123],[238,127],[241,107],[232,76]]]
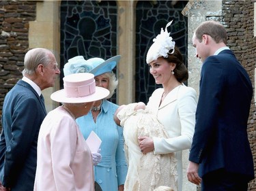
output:
[[[76,118],[86,115],[109,90],[96,87],[91,73],[68,75],[63,82],[63,90],[51,94],[63,105],[50,111],[40,128],[34,190],[94,191],[92,155]]]

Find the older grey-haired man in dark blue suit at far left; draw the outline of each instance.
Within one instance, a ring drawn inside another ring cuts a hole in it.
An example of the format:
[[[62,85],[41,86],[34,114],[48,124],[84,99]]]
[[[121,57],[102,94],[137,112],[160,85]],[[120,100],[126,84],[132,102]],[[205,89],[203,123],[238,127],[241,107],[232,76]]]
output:
[[[46,116],[41,91],[53,87],[59,73],[50,50],[31,49],[25,55],[23,79],[5,96],[0,139],[2,190],[33,190],[38,133]]]

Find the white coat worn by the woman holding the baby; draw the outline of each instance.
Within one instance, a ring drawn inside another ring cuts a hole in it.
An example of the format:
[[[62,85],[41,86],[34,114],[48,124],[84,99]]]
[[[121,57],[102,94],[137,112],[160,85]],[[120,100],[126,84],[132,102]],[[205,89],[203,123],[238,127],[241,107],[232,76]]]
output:
[[[182,150],[190,148],[195,131],[197,92],[180,85],[171,90],[160,105],[163,88],[156,89],[147,106],[152,107],[165,126],[169,139],[154,137],[154,153],[175,152],[177,158],[178,190],[182,191]]]

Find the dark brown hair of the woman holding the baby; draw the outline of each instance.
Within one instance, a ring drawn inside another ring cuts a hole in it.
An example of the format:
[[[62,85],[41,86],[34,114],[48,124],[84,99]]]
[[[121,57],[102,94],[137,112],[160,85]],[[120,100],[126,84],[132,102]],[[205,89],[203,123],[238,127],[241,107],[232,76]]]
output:
[[[172,50],[170,50],[172,51]],[[184,65],[182,54],[180,50],[175,46],[173,54],[168,54],[167,58],[168,63],[175,63],[176,67],[173,69],[174,75],[179,82],[185,82],[188,80],[188,69]]]

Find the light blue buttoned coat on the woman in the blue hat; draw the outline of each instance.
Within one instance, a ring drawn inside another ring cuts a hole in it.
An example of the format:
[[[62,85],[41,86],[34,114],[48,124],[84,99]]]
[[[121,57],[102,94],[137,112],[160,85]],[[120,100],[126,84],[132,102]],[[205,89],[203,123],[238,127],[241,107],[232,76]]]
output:
[[[76,119],[85,139],[91,131],[94,131],[102,140],[100,145],[102,160],[94,167],[94,177],[103,191],[117,191],[118,186],[124,184],[128,169],[123,128],[117,126],[113,120],[117,107],[118,105],[104,99],[96,123],[91,111],[87,116]]]

